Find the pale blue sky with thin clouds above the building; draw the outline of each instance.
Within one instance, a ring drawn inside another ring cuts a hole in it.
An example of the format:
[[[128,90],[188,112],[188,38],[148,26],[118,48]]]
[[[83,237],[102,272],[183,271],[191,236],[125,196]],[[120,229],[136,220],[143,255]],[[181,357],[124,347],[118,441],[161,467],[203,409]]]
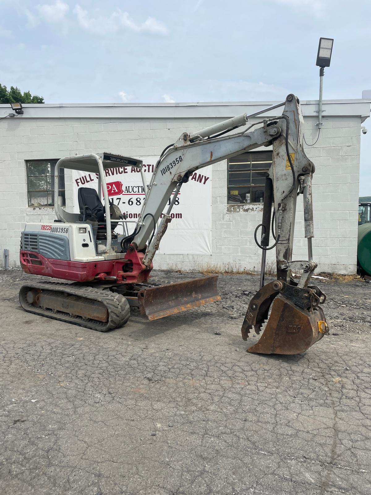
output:
[[[371,90],[370,19],[371,0],[0,0],[0,83],[46,103],[318,99],[323,36],[324,99],[358,99]]]

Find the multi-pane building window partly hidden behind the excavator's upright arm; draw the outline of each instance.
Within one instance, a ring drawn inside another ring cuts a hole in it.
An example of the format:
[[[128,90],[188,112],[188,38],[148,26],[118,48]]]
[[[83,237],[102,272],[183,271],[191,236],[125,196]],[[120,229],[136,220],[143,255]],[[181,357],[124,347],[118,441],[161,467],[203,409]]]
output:
[[[228,204],[262,203],[272,151],[253,151],[228,160]]]

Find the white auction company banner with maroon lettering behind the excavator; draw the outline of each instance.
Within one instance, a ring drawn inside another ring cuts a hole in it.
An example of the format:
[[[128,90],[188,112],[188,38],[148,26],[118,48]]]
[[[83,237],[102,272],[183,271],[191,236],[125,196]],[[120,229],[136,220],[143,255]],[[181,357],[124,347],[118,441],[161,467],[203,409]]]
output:
[[[144,156],[143,170],[149,184],[155,156]],[[139,168],[112,167],[105,169],[108,196],[117,204],[128,220],[138,220],[144,200],[143,183]],[[74,212],[79,212],[78,190],[81,187],[98,188],[95,174],[72,171]],[[168,201],[168,205],[170,200]],[[168,206],[166,206],[165,211]],[[211,254],[211,166],[194,172],[181,191],[171,211],[172,221],[161,240],[161,254]],[[135,223],[128,223],[129,234]],[[122,233],[122,227],[116,229]]]

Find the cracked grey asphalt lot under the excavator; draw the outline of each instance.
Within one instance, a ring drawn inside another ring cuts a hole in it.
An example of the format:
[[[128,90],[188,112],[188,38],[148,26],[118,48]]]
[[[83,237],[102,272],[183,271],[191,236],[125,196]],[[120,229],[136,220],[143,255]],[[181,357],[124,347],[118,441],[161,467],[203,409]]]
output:
[[[371,493],[371,284],[319,284],[330,335],[265,356],[240,336],[257,277],[105,334],[24,312],[26,278],[0,271],[1,494]]]

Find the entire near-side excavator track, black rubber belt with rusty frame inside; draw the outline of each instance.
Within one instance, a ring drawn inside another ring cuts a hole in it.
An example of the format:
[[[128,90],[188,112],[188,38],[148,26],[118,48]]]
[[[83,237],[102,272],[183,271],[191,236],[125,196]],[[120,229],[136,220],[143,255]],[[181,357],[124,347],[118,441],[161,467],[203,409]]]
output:
[[[29,313],[99,332],[121,327],[130,317],[130,306],[125,297],[75,284],[45,282],[23,285],[19,302]]]

